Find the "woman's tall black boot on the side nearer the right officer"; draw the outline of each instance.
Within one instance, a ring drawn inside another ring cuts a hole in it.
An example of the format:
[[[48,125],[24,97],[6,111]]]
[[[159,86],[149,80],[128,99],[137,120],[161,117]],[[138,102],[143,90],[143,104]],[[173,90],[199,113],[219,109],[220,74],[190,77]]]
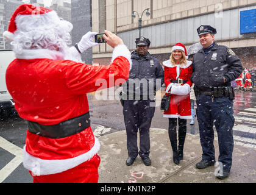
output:
[[[183,160],[183,147],[187,133],[187,119],[179,119],[179,160]]]

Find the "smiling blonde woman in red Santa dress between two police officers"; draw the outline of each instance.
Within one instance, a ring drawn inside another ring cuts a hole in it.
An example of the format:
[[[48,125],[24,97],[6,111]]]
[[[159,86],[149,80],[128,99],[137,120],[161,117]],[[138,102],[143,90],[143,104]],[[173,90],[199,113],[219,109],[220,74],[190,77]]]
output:
[[[163,117],[169,118],[169,140],[171,141],[173,161],[179,165],[183,160],[183,146],[187,133],[187,119],[191,119],[190,80],[192,62],[187,60],[187,49],[182,43],[172,47],[170,59],[163,62],[166,95],[171,96],[169,109]],[[179,146],[177,146],[177,121],[179,124]]]

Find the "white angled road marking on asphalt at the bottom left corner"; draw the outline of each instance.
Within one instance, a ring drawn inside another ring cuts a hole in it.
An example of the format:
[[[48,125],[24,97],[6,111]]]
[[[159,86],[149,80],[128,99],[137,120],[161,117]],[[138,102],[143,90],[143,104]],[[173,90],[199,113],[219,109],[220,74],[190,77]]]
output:
[[[0,170],[0,183],[2,183],[23,161],[23,149],[0,137],[0,147],[15,155],[15,157]]]

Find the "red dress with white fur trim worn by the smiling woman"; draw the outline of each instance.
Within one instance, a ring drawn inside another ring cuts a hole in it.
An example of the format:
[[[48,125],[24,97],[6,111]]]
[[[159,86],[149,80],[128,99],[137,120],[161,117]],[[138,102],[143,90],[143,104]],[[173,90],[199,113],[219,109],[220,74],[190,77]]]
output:
[[[172,65],[171,60],[163,62],[166,95],[171,96],[169,109],[163,113],[166,118],[191,119],[190,109],[190,80],[192,74],[192,62],[187,61],[187,65]],[[172,83],[171,80],[187,80],[186,83],[179,85]]]

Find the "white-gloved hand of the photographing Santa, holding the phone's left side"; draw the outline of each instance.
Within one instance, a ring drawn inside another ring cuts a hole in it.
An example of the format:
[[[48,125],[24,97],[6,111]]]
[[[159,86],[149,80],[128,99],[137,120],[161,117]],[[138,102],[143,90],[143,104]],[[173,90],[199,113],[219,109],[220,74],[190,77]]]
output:
[[[98,45],[99,43],[95,43],[94,42],[94,36],[98,34],[98,32],[87,32],[87,34],[85,34],[80,42],[77,44],[78,49],[80,50],[80,52],[84,52],[85,50]]]

